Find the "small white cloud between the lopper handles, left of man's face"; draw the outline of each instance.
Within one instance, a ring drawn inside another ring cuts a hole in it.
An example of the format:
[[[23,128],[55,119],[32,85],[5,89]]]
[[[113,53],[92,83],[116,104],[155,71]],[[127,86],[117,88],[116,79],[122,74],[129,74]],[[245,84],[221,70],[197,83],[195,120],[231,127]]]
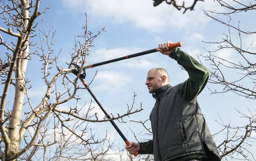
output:
[[[123,91],[122,88],[127,86],[127,83],[132,82],[133,78],[120,72],[104,71],[97,73],[95,81],[100,82],[97,83],[96,90],[107,90],[112,93]]]

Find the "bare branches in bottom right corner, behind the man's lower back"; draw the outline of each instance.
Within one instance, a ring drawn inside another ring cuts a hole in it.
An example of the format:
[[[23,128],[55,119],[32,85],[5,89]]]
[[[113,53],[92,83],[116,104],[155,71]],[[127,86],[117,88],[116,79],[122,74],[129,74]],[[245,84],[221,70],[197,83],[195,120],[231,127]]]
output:
[[[227,161],[233,159],[256,161],[253,151],[248,150],[248,147],[254,147],[253,143],[256,140],[256,137],[253,136],[256,130],[256,115],[250,110],[251,116],[247,116],[240,111],[238,112],[241,114],[241,118],[247,119],[248,124],[241,127],[232,126],[231,123],[225,124],[220,118],[221,122],[219,124],[224,128],[220,132],[213,134],[213,136],[217,134],[226,136],[226,139],[218,145],[221,158]]]

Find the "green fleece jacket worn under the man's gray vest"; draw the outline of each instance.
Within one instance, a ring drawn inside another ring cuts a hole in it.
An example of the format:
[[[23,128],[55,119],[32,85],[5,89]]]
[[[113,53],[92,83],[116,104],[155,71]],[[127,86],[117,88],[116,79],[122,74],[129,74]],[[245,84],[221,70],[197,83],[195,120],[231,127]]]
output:
[[[181,65],[189,74],[189,79],[180,84],[180,96],[187,100],[191,101],[195,99],[199,93],[204,89],[209,78],[209,71],[204,65],[195,60],[189,54],[180,50],[180,48],[175,48],[175,50],[170,54],[172,59],[175,59],[179,65]],[[143,150],[140,151],[140,150]],[[149,140],[143,143],[140,143],[140,150],[138,153],[153,153],[153,141]],[[189,155],[182,158],[177,158],[173,161],[187,161],[190,159],[199,159],[206,158],[205,155]]]

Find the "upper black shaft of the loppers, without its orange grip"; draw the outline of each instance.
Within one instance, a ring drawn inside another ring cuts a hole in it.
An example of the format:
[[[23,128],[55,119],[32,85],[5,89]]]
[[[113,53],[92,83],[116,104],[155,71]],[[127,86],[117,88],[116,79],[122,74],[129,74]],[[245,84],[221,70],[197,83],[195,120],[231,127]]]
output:
[[[116,59],[107,60],[105,62],[99,62],[99,63],[93,64],[92,66],[96,67],[96,66],[105,65],[105,64],[108,64],[108,63],[111,63],[111,62],[117,62],[117,61],[124,60],[124,59],[129,59],[129,58],[134,58],[134,57],[137,57],[137,56],[142,56],[142,55],[154,53],[154,52],[157,52],[156,49],[157,48],[154,48],[154,49],[151,49],[151,50],[142,51],[140,53],[135,53],[135,54],[119,57],[119,58],[116,58]]]

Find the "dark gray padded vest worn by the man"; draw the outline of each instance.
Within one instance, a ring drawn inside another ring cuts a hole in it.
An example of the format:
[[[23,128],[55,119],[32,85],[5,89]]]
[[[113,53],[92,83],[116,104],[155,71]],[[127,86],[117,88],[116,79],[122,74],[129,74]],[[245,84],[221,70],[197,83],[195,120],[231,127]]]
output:
[[[205,154],[207,161],[221,161],[197,99],[180,97],[179,85],[166,85],[150,114],[154,160],[171,161],[187,155]]]

